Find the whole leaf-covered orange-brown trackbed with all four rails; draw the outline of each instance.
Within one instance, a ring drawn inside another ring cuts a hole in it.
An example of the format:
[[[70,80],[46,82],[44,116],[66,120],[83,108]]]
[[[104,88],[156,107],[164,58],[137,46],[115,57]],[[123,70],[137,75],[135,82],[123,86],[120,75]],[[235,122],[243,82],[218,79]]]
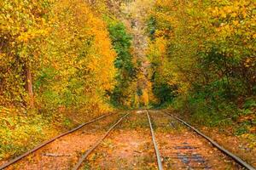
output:
[[[163,111],[101,116],[0,169],[254,169],[203,133]]]

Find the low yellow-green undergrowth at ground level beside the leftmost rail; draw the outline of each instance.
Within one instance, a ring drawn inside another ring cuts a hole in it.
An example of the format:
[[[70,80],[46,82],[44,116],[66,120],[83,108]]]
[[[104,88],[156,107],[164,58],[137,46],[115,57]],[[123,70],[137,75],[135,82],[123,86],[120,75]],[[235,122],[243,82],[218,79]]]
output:
[[[33,111],[5,107],[0,107],[0,115],[0,160],[19,156],[60,133],[61,127],[68,127],[67,119],[61,115],[46,117]]]

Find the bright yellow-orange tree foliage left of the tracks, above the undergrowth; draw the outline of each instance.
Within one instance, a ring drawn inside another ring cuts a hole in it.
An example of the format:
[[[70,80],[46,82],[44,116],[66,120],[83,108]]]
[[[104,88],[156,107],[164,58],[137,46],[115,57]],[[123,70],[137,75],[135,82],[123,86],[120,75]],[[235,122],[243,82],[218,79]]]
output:
[[[30,67],[39,107],[108,110],[105,94],[115,84],[116,54],[107,24],[96,13],[105,8],[101,4],[1,1],[0,105],[24,102],[25,67]]]

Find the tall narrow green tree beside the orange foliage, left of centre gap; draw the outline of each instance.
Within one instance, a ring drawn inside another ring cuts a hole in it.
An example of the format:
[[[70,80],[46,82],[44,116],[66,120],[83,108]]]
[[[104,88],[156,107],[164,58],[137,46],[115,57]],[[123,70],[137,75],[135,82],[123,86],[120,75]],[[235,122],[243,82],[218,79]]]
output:
[[[132,62],[131,36],[126,32],[125,26],[118,21],[109,21],[108,31],[113,48],[118,54],[114,61],[118,69],[116,75],[117,84],[111,93],[113,105],[126,105],[131,102],[131,83],[136,77],[136,69]]]

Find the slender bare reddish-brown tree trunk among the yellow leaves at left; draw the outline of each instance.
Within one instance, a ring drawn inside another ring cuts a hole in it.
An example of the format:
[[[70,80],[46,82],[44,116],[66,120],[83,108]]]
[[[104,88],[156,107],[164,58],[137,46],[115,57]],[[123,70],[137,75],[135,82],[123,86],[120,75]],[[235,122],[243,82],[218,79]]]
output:
[[[28,66],[26,66],[26,91],[29,96],[29,105],[31,108],[34,107],[34,94],[32,89],[32,74]]]

